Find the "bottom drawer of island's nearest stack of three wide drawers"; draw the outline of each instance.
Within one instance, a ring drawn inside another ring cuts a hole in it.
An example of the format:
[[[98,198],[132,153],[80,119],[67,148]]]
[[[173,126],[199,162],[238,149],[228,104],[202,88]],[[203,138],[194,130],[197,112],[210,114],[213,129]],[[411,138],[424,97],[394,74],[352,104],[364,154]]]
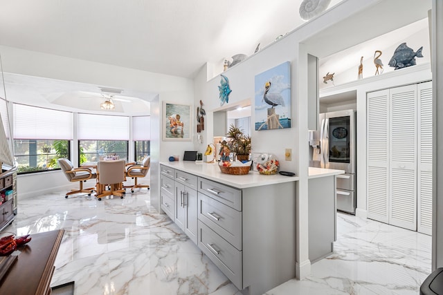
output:
[[[199,248],[229,278],[238,289],[243,289],[242,251],[215,234],[199,220]],[[266,267],[266,266],[264,266]]]

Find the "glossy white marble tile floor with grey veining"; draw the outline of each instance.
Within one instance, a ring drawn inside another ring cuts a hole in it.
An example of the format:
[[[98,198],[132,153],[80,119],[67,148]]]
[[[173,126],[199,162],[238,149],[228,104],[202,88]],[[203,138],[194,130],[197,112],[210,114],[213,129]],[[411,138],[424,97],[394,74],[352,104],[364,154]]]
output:
[[[146,189],[98,201],[64,191],[19,201],[5,231],[64,229],[51,285],[75,281],[75,294],[241,294],[167,216]],[[311,275],[266,292],[418,294],[431,273],[431,236],[338,213],[334,254]]]

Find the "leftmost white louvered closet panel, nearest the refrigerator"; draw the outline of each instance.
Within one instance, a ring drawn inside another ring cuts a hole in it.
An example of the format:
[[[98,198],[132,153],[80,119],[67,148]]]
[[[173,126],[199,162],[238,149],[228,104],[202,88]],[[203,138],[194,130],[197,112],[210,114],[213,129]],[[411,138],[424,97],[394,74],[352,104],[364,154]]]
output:
[[[368,218],[388,222],[389,91],[367,95],[367,208]]]

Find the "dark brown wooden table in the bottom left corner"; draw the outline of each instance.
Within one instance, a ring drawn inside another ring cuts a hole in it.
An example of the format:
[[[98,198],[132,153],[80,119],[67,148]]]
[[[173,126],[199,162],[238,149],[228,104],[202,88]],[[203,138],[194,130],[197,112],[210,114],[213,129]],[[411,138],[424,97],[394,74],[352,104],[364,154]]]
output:
[[[31,234],[32,240],[17,248],[21,253],[1,280],[0,294],[51,294],[54,262],[63,234],[63,229]]]

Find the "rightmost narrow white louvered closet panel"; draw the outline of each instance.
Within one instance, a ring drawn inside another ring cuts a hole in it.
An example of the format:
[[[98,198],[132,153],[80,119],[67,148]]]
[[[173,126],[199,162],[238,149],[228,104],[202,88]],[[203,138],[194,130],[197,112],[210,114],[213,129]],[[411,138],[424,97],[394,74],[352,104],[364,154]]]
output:
[[[417,231],[432,234],[432,82],[417,84],[418,182]]]

